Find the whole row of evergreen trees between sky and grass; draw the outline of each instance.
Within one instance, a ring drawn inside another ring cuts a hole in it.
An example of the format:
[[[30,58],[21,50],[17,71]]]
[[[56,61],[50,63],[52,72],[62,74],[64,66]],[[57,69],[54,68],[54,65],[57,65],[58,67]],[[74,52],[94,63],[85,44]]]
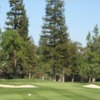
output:
[[[64,0],[46,0],[39,45],[28,36],[23,0],[9,0],[5,32],[0,31],[0,77],[54,81],[100,80],[100,33],[89,32],[86,47],[70,39]],[[92,35],[91,35],[92,34]]]

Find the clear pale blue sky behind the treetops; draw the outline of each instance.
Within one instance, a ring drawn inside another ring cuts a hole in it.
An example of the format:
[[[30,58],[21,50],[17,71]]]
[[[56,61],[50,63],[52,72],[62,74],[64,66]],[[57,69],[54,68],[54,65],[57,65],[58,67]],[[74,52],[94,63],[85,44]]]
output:
[[[4,31],[6,13],[10,11],[9,0],[0,3],[0,28]],[[42,18],[45,16],[45,0],[24,0],[27,17],[29,19],[29,36],[38,45]],[[86,46],[86,36],[98,24],[100,28],[100,0],[65,0],[65,20],[69,37]]]

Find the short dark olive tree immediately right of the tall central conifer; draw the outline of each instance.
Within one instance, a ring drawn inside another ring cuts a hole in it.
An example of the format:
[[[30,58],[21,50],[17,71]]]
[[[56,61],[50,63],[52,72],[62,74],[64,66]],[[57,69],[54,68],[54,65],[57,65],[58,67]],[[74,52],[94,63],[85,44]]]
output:
[[[79,50],[80,50],[80,43],[79,42],[71,42],[69,43],[69,66],[68,69],[70,70],[70,78],[71,81],[75,81],[75,77],[78,75],[78,63],[79,63]],[[67,62],[67,61],[66,61]]]

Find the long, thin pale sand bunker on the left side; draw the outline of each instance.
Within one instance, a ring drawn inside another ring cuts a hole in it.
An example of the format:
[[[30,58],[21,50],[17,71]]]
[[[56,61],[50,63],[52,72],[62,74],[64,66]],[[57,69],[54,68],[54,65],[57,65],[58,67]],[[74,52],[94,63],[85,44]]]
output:
[[[36,88],[34,85],[4,85],[0,84],[2,88]]]

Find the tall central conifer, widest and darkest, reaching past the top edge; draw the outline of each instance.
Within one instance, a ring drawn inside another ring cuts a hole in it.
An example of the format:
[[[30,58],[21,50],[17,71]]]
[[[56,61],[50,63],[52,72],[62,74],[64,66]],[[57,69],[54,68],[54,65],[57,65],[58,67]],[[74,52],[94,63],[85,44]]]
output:
[[[65,74],[67,43],[69,41],[64,17],[64,1],[46,0],[46,15],[40,38],[42,62],[48,63],[52,69],[53,79]]]

